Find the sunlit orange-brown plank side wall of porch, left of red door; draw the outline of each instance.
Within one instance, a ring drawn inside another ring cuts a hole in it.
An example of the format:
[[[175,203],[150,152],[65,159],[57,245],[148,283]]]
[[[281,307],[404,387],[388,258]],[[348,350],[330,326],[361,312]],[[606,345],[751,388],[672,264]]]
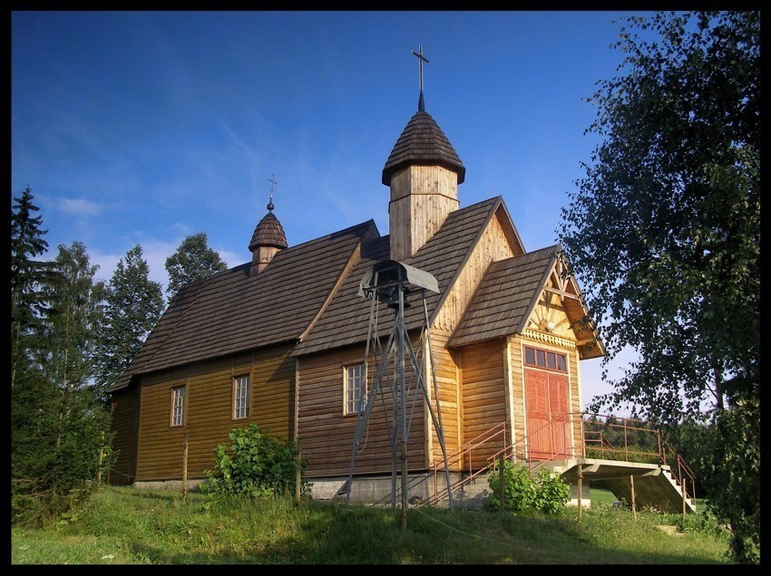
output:
[[[465,346],[464,375],[464,441],[471,442],[492,427],[505,422],[506,399],[503,353],[505,341],[496,339]],[[474,469],[487,466],[487,458],[503,448],[503,438],[495,446],[474,449]],[[468,463],[467,463],[468,464]]]

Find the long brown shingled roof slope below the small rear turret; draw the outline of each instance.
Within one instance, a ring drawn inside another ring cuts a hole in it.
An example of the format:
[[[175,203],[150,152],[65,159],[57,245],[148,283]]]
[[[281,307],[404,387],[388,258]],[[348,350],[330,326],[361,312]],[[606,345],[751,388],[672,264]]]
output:
[[[183,286],[112,390],[139,374],[298,341],[356,248],[373,236],[369,220],[281,250],[257,276],[241,264]]]

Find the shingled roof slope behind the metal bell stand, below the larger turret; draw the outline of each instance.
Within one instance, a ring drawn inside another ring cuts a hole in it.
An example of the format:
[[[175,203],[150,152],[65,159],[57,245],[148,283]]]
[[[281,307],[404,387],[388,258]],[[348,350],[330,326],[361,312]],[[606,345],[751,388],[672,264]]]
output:
[[[403,261],[403,264],[433,274],[439,284],[440,293],[426,293],[429,320],[438,310],[444,293],[452,286],[484,226],[502,202],[501,197],[493,197],[451,212],[437,233],[414,256]],[[314,329],[298,344],[293,355],[310,354],[366,341],[370,302],[359,296],[359,283],[371,265],[389,258],[388,241],[389,237],[383,236],[376,243],[369,245],[362,260],[353,267]],[[415,305],[405,310],[407,330],[423,325],[424,314],[422,306]],[[390,331],[392,326],[393,315],[384,313],[378,330]]]

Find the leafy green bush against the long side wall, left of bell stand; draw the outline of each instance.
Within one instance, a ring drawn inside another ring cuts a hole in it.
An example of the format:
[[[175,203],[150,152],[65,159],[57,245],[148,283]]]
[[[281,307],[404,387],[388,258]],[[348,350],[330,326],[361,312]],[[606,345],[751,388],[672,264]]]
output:
[[[298,461],[295,443],[271,437],[259,426],[232,428],[230,442],[214,451],[214,469],[205,470],[208,482],[200,489],[208,494],[253,497],[294,494]],[[307,460],[300,462],[300,477]],[[300,481],[300,494],[309,493],[310,484]]]

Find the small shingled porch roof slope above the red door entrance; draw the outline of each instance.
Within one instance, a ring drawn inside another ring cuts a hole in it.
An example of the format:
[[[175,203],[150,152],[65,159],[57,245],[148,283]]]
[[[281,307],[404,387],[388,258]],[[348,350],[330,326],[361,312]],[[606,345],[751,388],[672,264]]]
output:
[[[447,345],[521,332],[559,251],[553,245],[490,264]]]

